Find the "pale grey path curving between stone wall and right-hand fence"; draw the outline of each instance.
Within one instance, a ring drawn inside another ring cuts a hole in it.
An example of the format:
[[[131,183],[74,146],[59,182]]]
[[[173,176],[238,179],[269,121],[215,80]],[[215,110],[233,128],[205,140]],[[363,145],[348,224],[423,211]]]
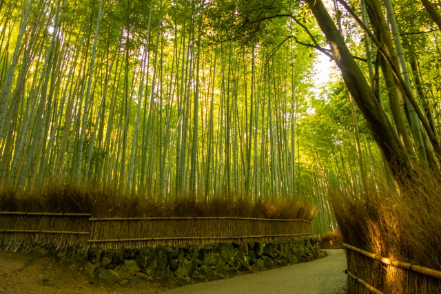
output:
[[[198,283],[167,290],[165,294],[338,294],[347,275],[345,251],[329,250],[330,256],[271,271],[240,275],[226,280]]]

